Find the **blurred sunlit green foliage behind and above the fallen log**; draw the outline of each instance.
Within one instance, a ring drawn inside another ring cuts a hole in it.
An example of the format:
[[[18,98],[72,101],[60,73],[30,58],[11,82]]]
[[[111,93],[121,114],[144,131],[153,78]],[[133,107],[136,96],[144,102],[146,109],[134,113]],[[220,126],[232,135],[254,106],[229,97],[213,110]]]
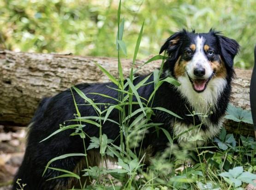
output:
[[[118,0],[0,0],[0,48],[117,56]],[[237,67],[253,65],[256,0],[123,0],[124,41],[132,58],[145,21],[138,58],[158,54],[182,28],[222,31],[241,45]]]

